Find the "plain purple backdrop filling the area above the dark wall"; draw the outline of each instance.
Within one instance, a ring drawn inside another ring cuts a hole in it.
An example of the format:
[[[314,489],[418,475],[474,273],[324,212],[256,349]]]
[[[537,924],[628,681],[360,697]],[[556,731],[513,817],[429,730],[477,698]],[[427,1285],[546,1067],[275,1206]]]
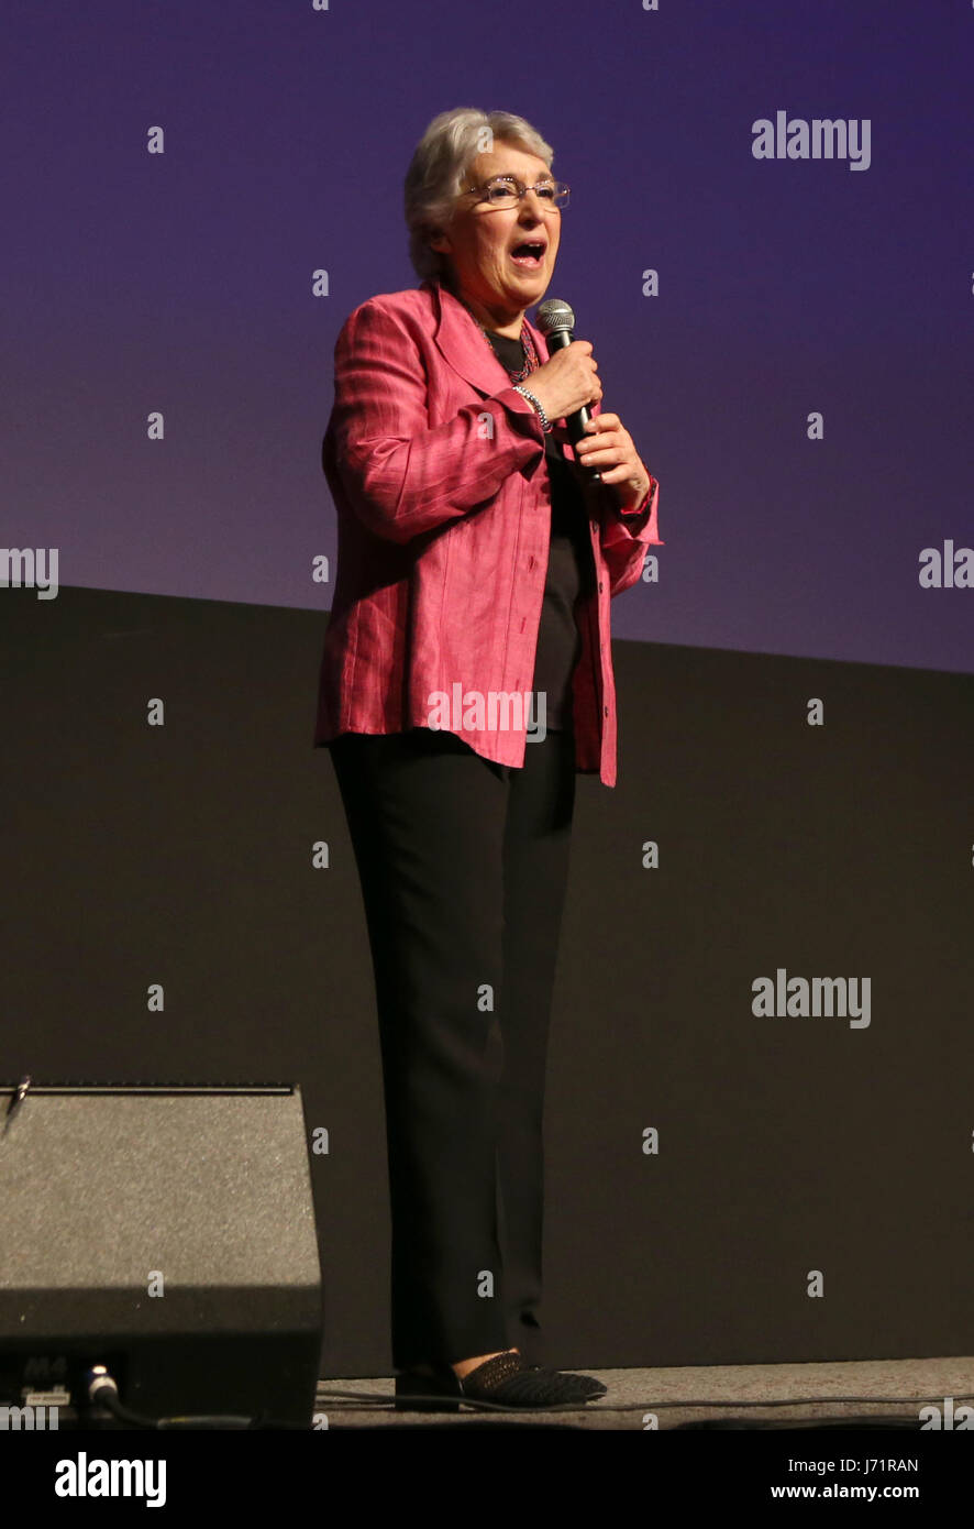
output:
[[[428,121],[503,107],[572,187],[547,295],[661,479],[616,635],[974,670],[974,590],[919,581],[974,544],[966,0],[8,0],[3,31],[3,546],[326,610],[335,336],[417,284]],[[868,121],[868,168],[754,157],[777,112]]]

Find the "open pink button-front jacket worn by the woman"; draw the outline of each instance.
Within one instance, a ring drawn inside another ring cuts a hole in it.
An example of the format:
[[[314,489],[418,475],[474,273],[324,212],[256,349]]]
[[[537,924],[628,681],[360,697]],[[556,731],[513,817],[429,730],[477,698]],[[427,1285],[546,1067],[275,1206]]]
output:
[[[529,329],[546,361],[544,336]],[[373,297],[346,321],[323,465],[338,572],[315,746],[339,732],[436,726],[431,716],[450,697],[453,720],[440,709],[440,725],[485,758],[521,766],[531,719],[509,697],[534,680],[550,532],[544,433],[440,283]],[[624,515],[612,486],[583,494],[596,590],[578,604],[575,760],[615,786],[609,602],[639,579],[647,547],[662,544],[659,485],[651,479],[648,517],[647,502]],[[469,706],[469,693],[483,709]]]

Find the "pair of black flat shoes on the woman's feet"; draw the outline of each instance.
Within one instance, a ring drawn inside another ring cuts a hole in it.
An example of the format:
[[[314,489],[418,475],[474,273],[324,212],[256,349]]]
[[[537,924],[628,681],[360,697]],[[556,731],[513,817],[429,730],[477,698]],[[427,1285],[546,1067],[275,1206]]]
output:
[[[451,1365],[430,1367],[433,1375],[408,1370],[396,1376],[396,1408],[453,1411],[462,1401],[495,1402],[500,1407],[583,1405],[606,1394],[606,1387],[590,1375],[573,1375],[528,1364],[520,1353],[498,1353],[485,1359],[463,1379]],[[407,1398],[416,1401],[407,1402]]]

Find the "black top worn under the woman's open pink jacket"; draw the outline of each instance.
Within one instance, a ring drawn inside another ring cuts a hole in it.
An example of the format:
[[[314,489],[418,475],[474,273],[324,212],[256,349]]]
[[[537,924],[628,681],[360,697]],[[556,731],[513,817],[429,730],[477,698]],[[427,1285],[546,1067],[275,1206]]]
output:
[[[520,339],[489,330],[486,335],[500,364],[515,376],[524,365]],[[531,387],[529,376],[524,387]],[[557,732],[572,725],[572,674],[581,656],[575,601],[583,593],[592,593],[595,566],[586,503],[572,466],[550,433],[544,437],[544,463],[550,479],[552,534],[532,688],[544,691],[544,725],[549,732]]]

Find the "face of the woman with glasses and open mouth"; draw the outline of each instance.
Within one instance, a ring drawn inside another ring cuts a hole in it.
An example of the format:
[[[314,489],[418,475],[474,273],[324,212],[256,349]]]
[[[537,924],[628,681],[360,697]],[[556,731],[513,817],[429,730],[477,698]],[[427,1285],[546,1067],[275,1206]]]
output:
[[[489,154],[477,154],[463,185],[479,187],[500,174],[517,176],[526,187],[552,179],[537,154],[495,139]],[[544,297],[555,271],[560,239],[560,209],[549,208],[534,191],[528,191],[511,208],[460,196],[450,228],[431,245],[448,255],[453,286],[471,304],[494,315],[517,315]],[[518,265],[512,258],[512,249],[524,240],[544,243],[537,265]]]

